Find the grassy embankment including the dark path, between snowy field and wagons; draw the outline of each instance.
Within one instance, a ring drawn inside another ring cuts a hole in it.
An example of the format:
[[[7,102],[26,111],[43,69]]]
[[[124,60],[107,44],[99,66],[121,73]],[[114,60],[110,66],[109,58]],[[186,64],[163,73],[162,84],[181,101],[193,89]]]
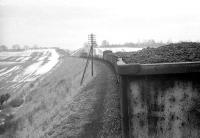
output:
[[[118,86],[113,72],[95,62],[82,86],[85,60],[67,57],[44,79],[21,91],[25,101],[3,137],[120,137]],[[89,65],[90,67],[90,65]]]

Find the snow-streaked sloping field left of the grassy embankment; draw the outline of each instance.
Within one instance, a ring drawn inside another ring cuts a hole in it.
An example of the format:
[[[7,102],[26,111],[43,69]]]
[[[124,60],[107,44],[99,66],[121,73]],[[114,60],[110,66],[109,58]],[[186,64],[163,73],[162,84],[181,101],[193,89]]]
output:
[[[0,52],[0,92],[16,89],[49,72],[59,61],[55,49]]]

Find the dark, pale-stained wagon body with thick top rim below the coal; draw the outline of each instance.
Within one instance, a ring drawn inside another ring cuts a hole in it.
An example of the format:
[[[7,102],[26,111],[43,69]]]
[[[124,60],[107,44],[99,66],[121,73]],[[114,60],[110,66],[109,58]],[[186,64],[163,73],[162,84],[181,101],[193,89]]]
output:
[[[117,68],[124,137],[200,137],[200,62]]]

